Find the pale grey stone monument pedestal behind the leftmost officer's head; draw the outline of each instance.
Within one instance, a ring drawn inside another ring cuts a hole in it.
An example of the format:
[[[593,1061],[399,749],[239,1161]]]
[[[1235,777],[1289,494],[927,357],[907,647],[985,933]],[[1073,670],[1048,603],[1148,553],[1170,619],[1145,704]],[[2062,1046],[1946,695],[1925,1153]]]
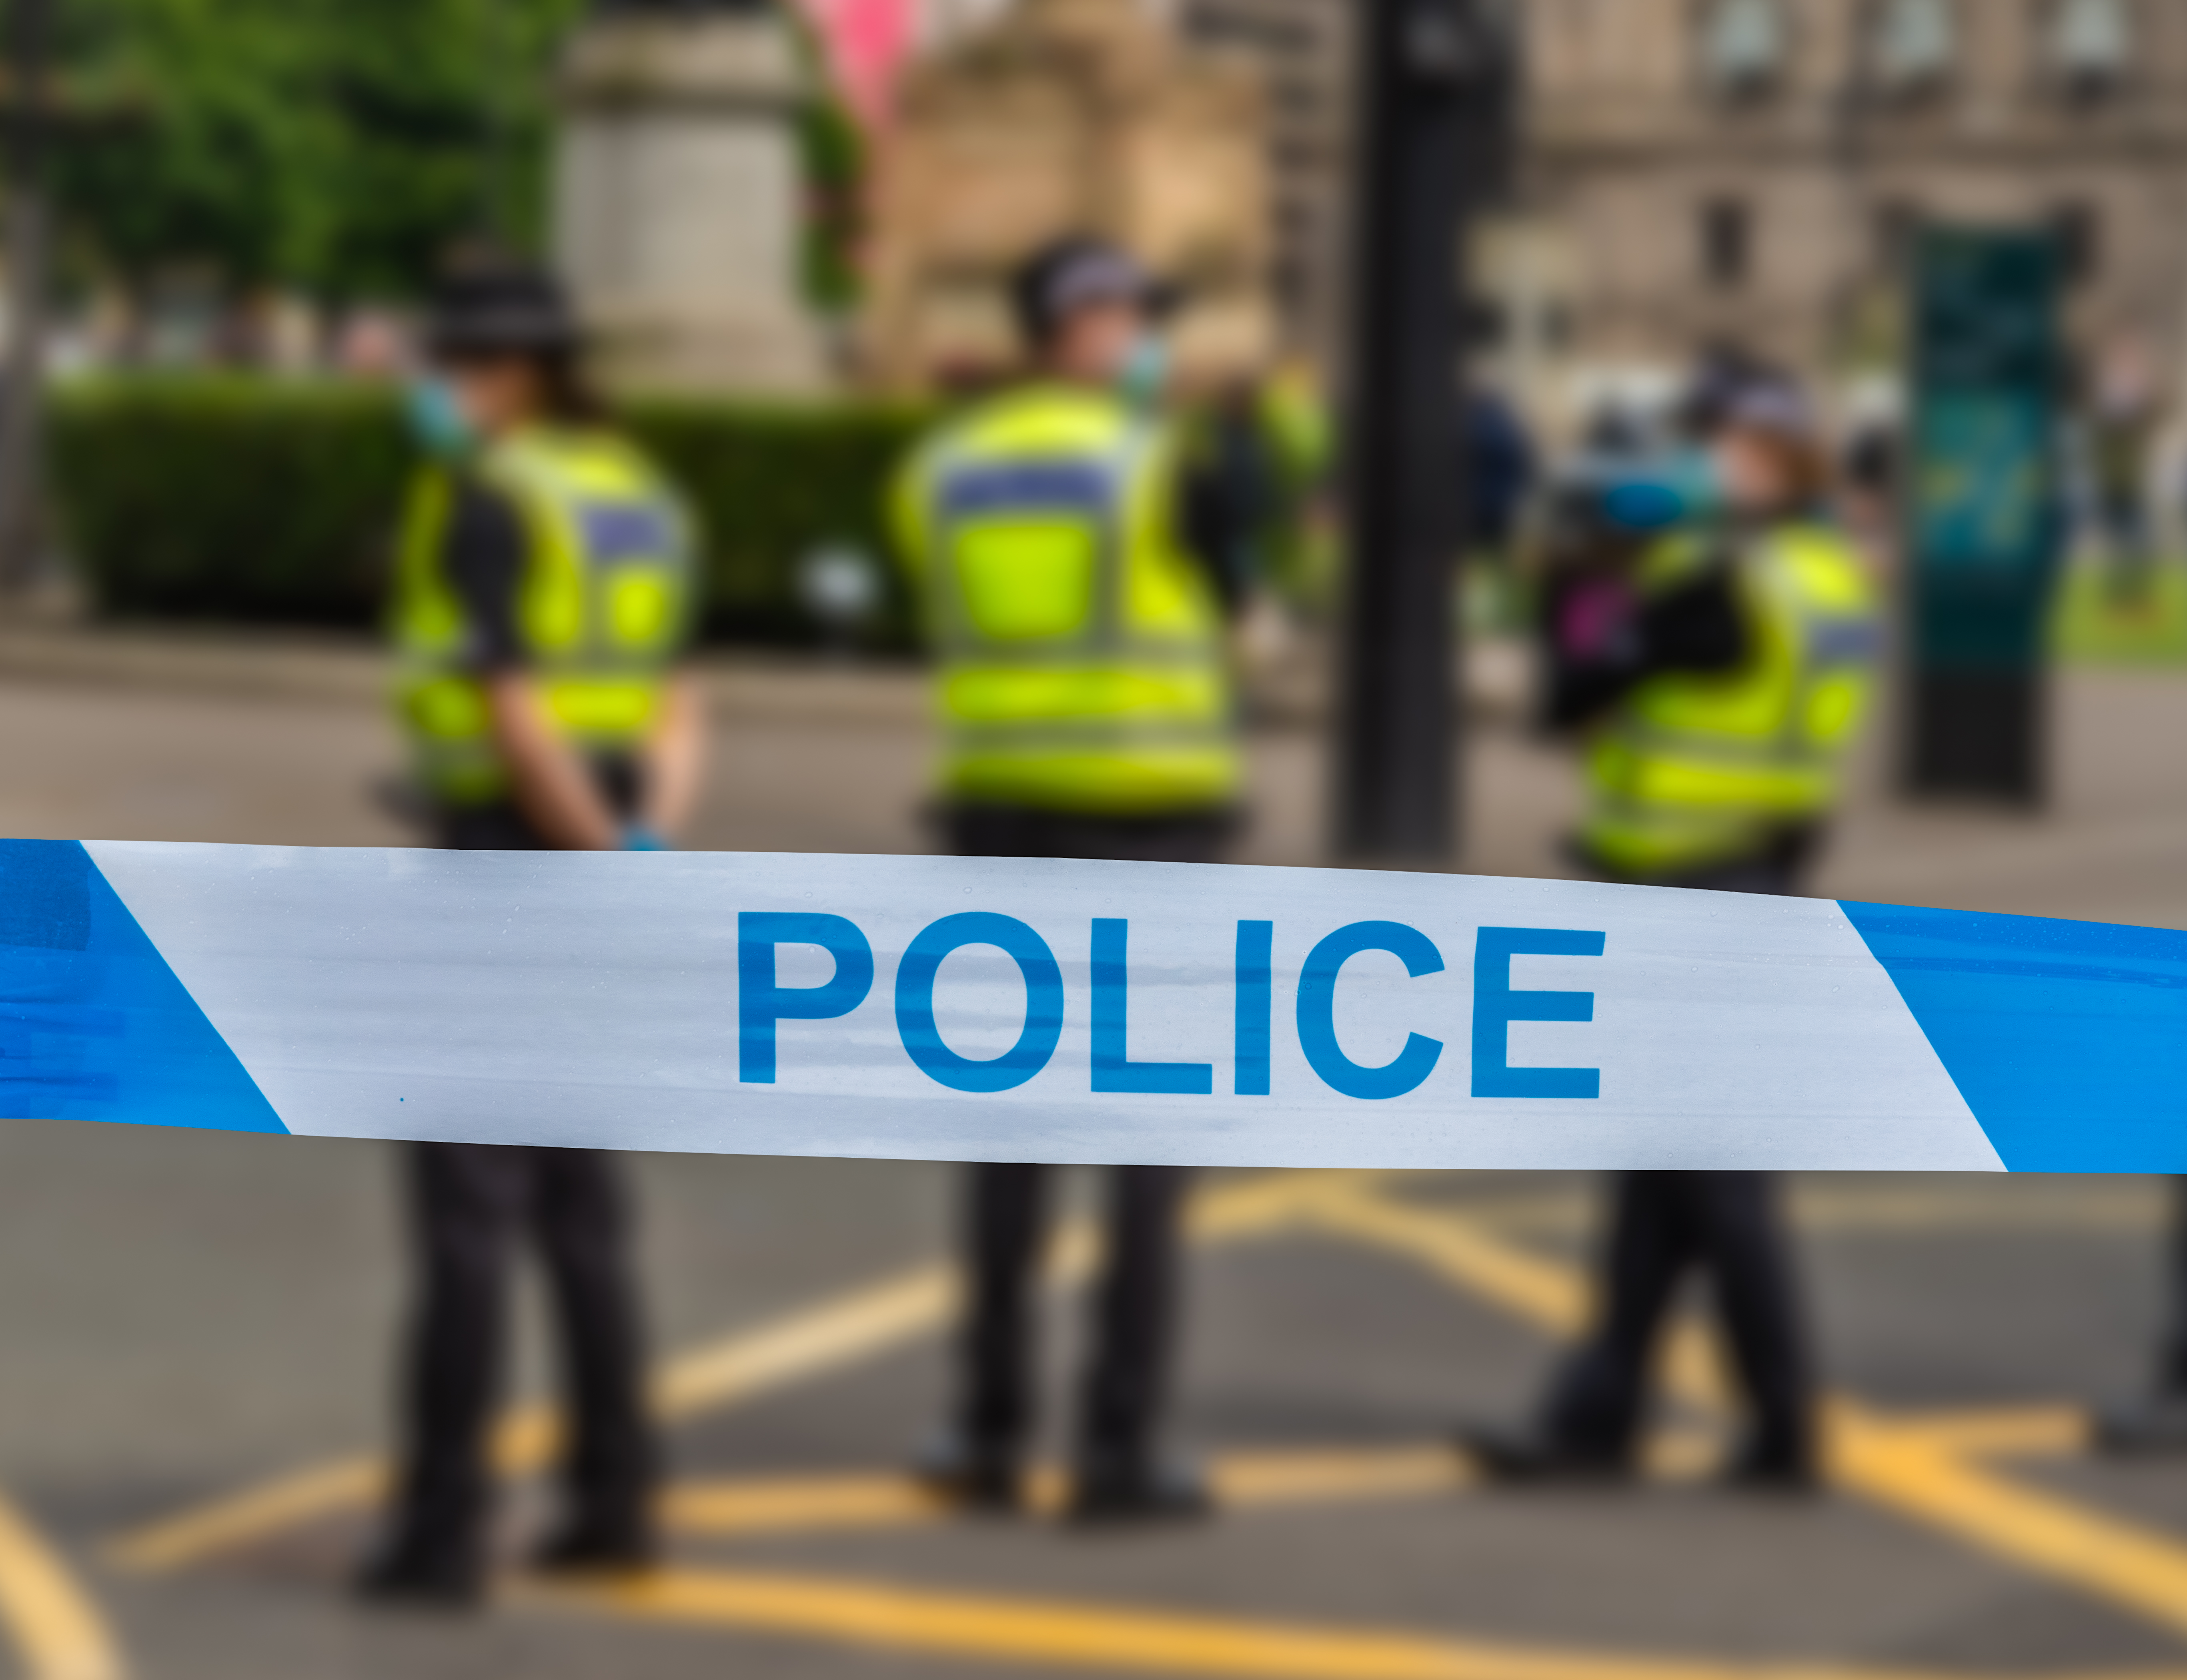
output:
[[[555,258],[623,387],[814,391],[790,22],[770,0],[595,0],[560,70]]]

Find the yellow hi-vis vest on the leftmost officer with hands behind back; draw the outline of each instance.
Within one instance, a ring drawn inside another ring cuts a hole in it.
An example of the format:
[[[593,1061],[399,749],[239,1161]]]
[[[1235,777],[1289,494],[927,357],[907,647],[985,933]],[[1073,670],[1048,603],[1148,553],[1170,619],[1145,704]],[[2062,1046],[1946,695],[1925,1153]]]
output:
[[[516,629],[547,714],[588,756],[636,749],[660,717],[691,616],[691,527],[628,443],[595,430],[525,428],[475,465],[523,522]],[[418,778],[444,804],[507,793],[472,627],[444,572],[455,478],[416,483],[396,553],[396,708]]]

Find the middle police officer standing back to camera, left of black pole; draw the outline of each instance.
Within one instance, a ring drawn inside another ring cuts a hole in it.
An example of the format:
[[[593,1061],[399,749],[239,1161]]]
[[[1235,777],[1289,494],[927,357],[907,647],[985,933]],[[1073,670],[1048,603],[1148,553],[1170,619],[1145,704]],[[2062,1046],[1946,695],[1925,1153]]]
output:
[[[1161,295],[1122,251],[1063,240],[1017,275],[1037,360],[947,424],[897,489],[938,660],[943,800],[960,856],[1212,863],[1240,752],[1225,625],[1159,415]],[[971,1171],[956,1420],[927,1481],[980,1510],[1024,1496],[1045,1167]],[[1185,1171],[1120,1167],[1076,1433],[1078,1521],[1192,1516],[1157,1453]]]

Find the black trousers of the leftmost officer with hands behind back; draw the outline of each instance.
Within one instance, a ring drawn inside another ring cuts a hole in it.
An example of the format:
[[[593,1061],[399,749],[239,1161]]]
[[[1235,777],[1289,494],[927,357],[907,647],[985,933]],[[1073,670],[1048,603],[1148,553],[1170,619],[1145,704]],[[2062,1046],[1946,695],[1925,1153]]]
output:
[[[547,850],[510,806],[448,813],[451,850]],[[416,1143],[409,1158],[418,1302],[411,1324],[396,1547],[470,1562],[492,1494],[507,1271],[529,1239],[547,1269],[569,1396],[566,1523],[641,1540],[658,1455],[621,1169],[599,1149]]]

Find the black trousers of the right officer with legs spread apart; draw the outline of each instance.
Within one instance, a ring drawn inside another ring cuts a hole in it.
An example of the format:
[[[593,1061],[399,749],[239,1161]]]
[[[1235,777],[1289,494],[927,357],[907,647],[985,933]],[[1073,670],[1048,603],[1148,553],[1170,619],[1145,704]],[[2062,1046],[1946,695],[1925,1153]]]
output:
[[[1671,885],[1791,894],[1804,848]],[[1677,1287],[1708,1278],[1752,1411],[1750,1464],[1809,1466],[1813,1379],[1791,1245],[1771,1173],[1618,1173],[1601,1254],[1594,1330],[1551,1385],[1551,1442],[1597,1459],[1629,1457],[1647,1376]]]

